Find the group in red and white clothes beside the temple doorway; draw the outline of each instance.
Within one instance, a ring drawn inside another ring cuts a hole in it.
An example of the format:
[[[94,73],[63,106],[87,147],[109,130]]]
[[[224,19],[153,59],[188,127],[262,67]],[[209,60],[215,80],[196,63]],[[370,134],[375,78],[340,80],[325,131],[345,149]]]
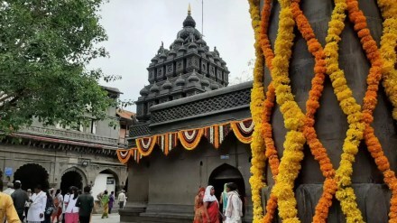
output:
[[[193,223],[241,223],[243,217],[243,201],[237,192],[234,182],[225,183],[225,189],[217,200],[215,189],[209,185],[200,188],[195,198],[195,216]],[[222,212],[219,206],[222,205]]]

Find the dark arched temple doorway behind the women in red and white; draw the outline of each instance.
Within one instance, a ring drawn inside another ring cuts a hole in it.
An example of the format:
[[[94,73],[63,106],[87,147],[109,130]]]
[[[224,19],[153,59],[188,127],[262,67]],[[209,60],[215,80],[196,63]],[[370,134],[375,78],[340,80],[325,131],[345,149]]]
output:
[[[243,175],[238,171],[237,168],[231,166],[229,164],[222,164],[218,166],[211,175],[209,175],[208,185],[212,185],[215,189],[215,196],[219,200],[220,194],[224,190],[224,185],[227,182],[235,182],[237,184],[237,190],[240,194],[240,198],[243,200],[243,207],[245,202],[245,183]],[[221,207],[219,207],[221,208]],[[243,209],[243,213],[245,213],[245,209]]]

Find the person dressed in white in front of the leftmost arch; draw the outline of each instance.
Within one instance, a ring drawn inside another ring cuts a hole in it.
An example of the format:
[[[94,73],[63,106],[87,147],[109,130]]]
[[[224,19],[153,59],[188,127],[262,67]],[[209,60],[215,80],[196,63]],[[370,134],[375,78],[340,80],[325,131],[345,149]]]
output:
[[[44,220],[45,205],[47,203],[47,195],[42,191],[42,186],[34,187],[32,194],[31,208],[28,212],[27,220],[29,223],[42,222]]]

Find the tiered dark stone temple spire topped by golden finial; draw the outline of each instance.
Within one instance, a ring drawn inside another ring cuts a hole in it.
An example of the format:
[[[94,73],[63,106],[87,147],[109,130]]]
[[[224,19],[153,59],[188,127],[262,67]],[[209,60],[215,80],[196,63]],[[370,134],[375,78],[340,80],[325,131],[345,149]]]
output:
[[[150,119],[150,107],[228,85],[229,71],[217,47],[209,51],[207,42],[188,16],[170,49],[160,46],[149,68],[149,85],[142,88],[136,102],[137,118]]]

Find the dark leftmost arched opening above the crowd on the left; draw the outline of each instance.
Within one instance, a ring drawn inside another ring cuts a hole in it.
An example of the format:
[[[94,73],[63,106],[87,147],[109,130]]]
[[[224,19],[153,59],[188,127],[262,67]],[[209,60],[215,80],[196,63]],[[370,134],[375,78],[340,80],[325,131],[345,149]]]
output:
[[[48,178],[48,172],[44,167],[36,163],[24,164],[14,173],[14,181],[21,181],[23,190],[33,190],[38,184],[42,185],[43,190],[49,189]]]

